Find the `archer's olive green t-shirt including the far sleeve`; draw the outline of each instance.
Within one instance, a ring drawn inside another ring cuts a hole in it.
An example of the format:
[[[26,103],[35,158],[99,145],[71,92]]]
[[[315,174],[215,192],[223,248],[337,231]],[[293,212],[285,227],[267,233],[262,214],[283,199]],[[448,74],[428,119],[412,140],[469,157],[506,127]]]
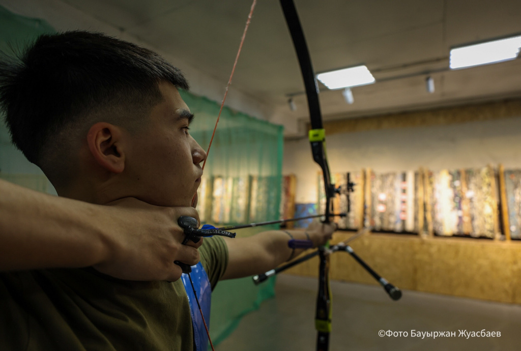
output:
[[[199,248],[212,289],[228,265],[221,237]],[[193,350],[182,281],[137,282],[93,268],[0,273],[0,350]]]

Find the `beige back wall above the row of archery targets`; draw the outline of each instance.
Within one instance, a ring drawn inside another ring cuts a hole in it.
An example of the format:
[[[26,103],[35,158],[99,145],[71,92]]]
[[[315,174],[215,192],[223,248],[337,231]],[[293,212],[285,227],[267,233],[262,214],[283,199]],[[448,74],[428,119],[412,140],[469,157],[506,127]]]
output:
[[[331,172],[497,166],[521,168],[521,101],[325,124]],[[317,199],[318,166],[307,140],[284,143],[283,174],[297,175],[296,202]]]

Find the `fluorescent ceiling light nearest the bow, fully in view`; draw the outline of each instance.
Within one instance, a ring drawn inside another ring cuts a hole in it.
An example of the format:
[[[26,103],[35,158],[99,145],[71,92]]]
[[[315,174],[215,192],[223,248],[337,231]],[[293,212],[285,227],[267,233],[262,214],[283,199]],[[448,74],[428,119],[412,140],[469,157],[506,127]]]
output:
[[[375,77],[364,65],[320,73],[317,74],[317,79],[328,89],[342,89],[375,82]]]

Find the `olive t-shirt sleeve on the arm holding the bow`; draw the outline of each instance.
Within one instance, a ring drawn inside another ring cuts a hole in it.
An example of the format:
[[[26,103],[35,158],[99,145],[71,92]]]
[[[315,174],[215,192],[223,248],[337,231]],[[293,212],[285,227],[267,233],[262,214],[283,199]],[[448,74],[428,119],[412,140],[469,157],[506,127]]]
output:
[[[228,246],[220,236],[205,237],[199,248],[201,262],[212,285],[212,290],[228,267]]]

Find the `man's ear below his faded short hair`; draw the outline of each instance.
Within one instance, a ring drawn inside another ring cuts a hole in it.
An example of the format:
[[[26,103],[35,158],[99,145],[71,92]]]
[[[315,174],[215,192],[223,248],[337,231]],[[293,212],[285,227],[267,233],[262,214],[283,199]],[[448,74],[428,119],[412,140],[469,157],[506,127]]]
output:
[[[96,162],[106,170],[121,173],[125,169],[121,128],[98,122],[89,129],[87,144]]]

